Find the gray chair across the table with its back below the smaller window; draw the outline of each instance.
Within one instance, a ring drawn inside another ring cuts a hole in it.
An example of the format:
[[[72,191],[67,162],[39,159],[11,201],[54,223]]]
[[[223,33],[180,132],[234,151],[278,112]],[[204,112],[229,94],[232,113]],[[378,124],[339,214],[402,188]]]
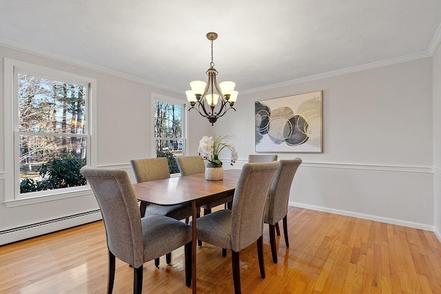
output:
[[[149,182],[151,180],[170,178],[170,169],[165,157],[132,159],[130,164],[132,165],[136,182]],[[185,219],[186,223],[188,223],[189,216],[192,216],[192,207],[185,205],[163,206],[141,202],[140,209],[141,216],[159,214],[174,218],[175,220]],[[172,253],[167,253],[165,260],[167,264],[170,264],[172,262]],[[154,264],[156,267],[159,266],[159,258],[156,258]]]

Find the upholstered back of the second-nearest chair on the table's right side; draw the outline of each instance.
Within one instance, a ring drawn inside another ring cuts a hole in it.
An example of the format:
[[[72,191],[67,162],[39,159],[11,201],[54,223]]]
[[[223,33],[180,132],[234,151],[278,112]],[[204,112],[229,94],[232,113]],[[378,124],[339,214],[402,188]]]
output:
[[[265,208],[265,222],[268,224],[276,224],[287,215],[289,191],[291,191],[294,175],[302,160],[295,158],[279,160],[279,162],[280,167],[269,189],[267,207]]]

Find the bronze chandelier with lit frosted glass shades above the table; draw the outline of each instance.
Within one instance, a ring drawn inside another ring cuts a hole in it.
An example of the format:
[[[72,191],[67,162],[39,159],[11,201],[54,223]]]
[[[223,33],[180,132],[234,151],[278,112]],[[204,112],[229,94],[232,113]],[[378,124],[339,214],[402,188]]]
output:
[[[236,102],[238,94],[237,91],[234,91],[236,83],[227,81],[219,83],[218,85],[216,81],[218,72],[214,69],[213,41],[217,38],[218,34],[215,32],[207,33],[207,39],[212,41],[212,62],[209,63],[209,69],[206,72],[208,76],[207,83],[203,81],[192,81],[190,83],[192,90],[185,91],[187,101],[192,105],[188,110],[196,109],[201,116],[208,118],[208,121],[212,123],[212,125],[229,109],[234,109],[234,102]],[[220,103],[218,104],[218,102]],[[234,111],[236,111],[236,109],[234,109]]]

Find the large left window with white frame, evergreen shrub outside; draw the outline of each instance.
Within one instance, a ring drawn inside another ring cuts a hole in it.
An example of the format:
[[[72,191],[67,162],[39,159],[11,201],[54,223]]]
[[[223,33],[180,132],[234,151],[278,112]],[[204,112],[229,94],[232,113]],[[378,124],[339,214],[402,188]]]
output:
[[[12,72],[12,93],[6,93],[14,109],[14,199],[85,186],[79,169],[90,165],[93,81],[19,61],[8,60],[7,66]]]

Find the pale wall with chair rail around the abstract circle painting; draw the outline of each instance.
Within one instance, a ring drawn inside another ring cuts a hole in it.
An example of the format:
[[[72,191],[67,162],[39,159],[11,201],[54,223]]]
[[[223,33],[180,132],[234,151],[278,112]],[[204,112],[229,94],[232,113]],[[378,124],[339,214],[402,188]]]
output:
[[[317,90],[324,152],[278,154],[304,162],[290,204],[432,231],[432,59],[240,95],[234,118],[216,128],[240,138],[245,162],[255,153],[254,102]]]

